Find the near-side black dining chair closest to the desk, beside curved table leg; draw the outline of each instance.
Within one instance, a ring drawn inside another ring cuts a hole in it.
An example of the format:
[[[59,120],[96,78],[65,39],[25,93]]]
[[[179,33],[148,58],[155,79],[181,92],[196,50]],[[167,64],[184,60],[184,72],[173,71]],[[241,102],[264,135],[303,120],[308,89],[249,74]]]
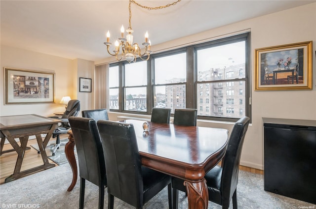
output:
[[[79,163],[79,209],[83,209],[85,180],[99,186],[99,209],[103,209],[104,187],[107,186],[107,177],[96,121],[94,119],[70,117],[69,122],[74,135]]]

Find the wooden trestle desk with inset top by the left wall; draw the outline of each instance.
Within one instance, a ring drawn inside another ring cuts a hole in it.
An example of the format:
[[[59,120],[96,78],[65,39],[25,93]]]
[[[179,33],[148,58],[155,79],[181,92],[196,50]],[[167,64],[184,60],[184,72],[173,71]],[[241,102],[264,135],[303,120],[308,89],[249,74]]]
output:
[[[5,179],[5,183],[19,179],[36,171],[55,167],[55,164],[49,163],[45,148],[53,131],[57,128],[58,122],[61,122],[61,120],[35,114],[0,117],[1,154],[8,151],[16,151],[18,153],[14,172]],[[41,134],[46,135],[44,140],[42,140]],[[36,136],[43,164],[21,171],[24,154],[28,149],[27,143],[30,136]],[[16,138],[19,138],[20,145],[15,141]],[[5,139],[7,139],[13,149],[2,151]]]

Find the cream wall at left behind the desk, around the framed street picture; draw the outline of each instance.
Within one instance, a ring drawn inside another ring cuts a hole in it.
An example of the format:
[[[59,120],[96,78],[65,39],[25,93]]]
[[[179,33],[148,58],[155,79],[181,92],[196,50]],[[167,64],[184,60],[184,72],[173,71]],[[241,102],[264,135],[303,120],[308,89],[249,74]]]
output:
[[[72,99],[78,98],[81,101],[81,110],[93,109],[94,94],[79,92],[79,76],[94,80],[93,61],[69,60],[2,45],[0,50],[0,116],[24,114],[53,116],[55,112],[65,111],[65,106],[60,105],[59,102],[66,95],[71,96]],[[55,73],[55,103],[4,105],[4,67]]]

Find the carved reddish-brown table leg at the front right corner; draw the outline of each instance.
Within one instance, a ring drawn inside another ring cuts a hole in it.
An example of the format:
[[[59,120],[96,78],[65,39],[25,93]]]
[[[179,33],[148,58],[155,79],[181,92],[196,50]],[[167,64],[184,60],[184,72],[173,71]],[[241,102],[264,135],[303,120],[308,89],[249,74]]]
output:
[[[189,209],[207,209],[208,191],[206,180],[198,182],[184,181],[188,193]]]

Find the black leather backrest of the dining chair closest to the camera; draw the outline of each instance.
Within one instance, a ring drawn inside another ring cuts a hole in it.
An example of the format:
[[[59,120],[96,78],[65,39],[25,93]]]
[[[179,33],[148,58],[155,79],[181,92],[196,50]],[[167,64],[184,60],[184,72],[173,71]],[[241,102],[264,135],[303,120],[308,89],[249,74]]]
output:
[[[143,179],[133,124],[99,120],[97,125],[108,172],[108,193],[139,208]]]

